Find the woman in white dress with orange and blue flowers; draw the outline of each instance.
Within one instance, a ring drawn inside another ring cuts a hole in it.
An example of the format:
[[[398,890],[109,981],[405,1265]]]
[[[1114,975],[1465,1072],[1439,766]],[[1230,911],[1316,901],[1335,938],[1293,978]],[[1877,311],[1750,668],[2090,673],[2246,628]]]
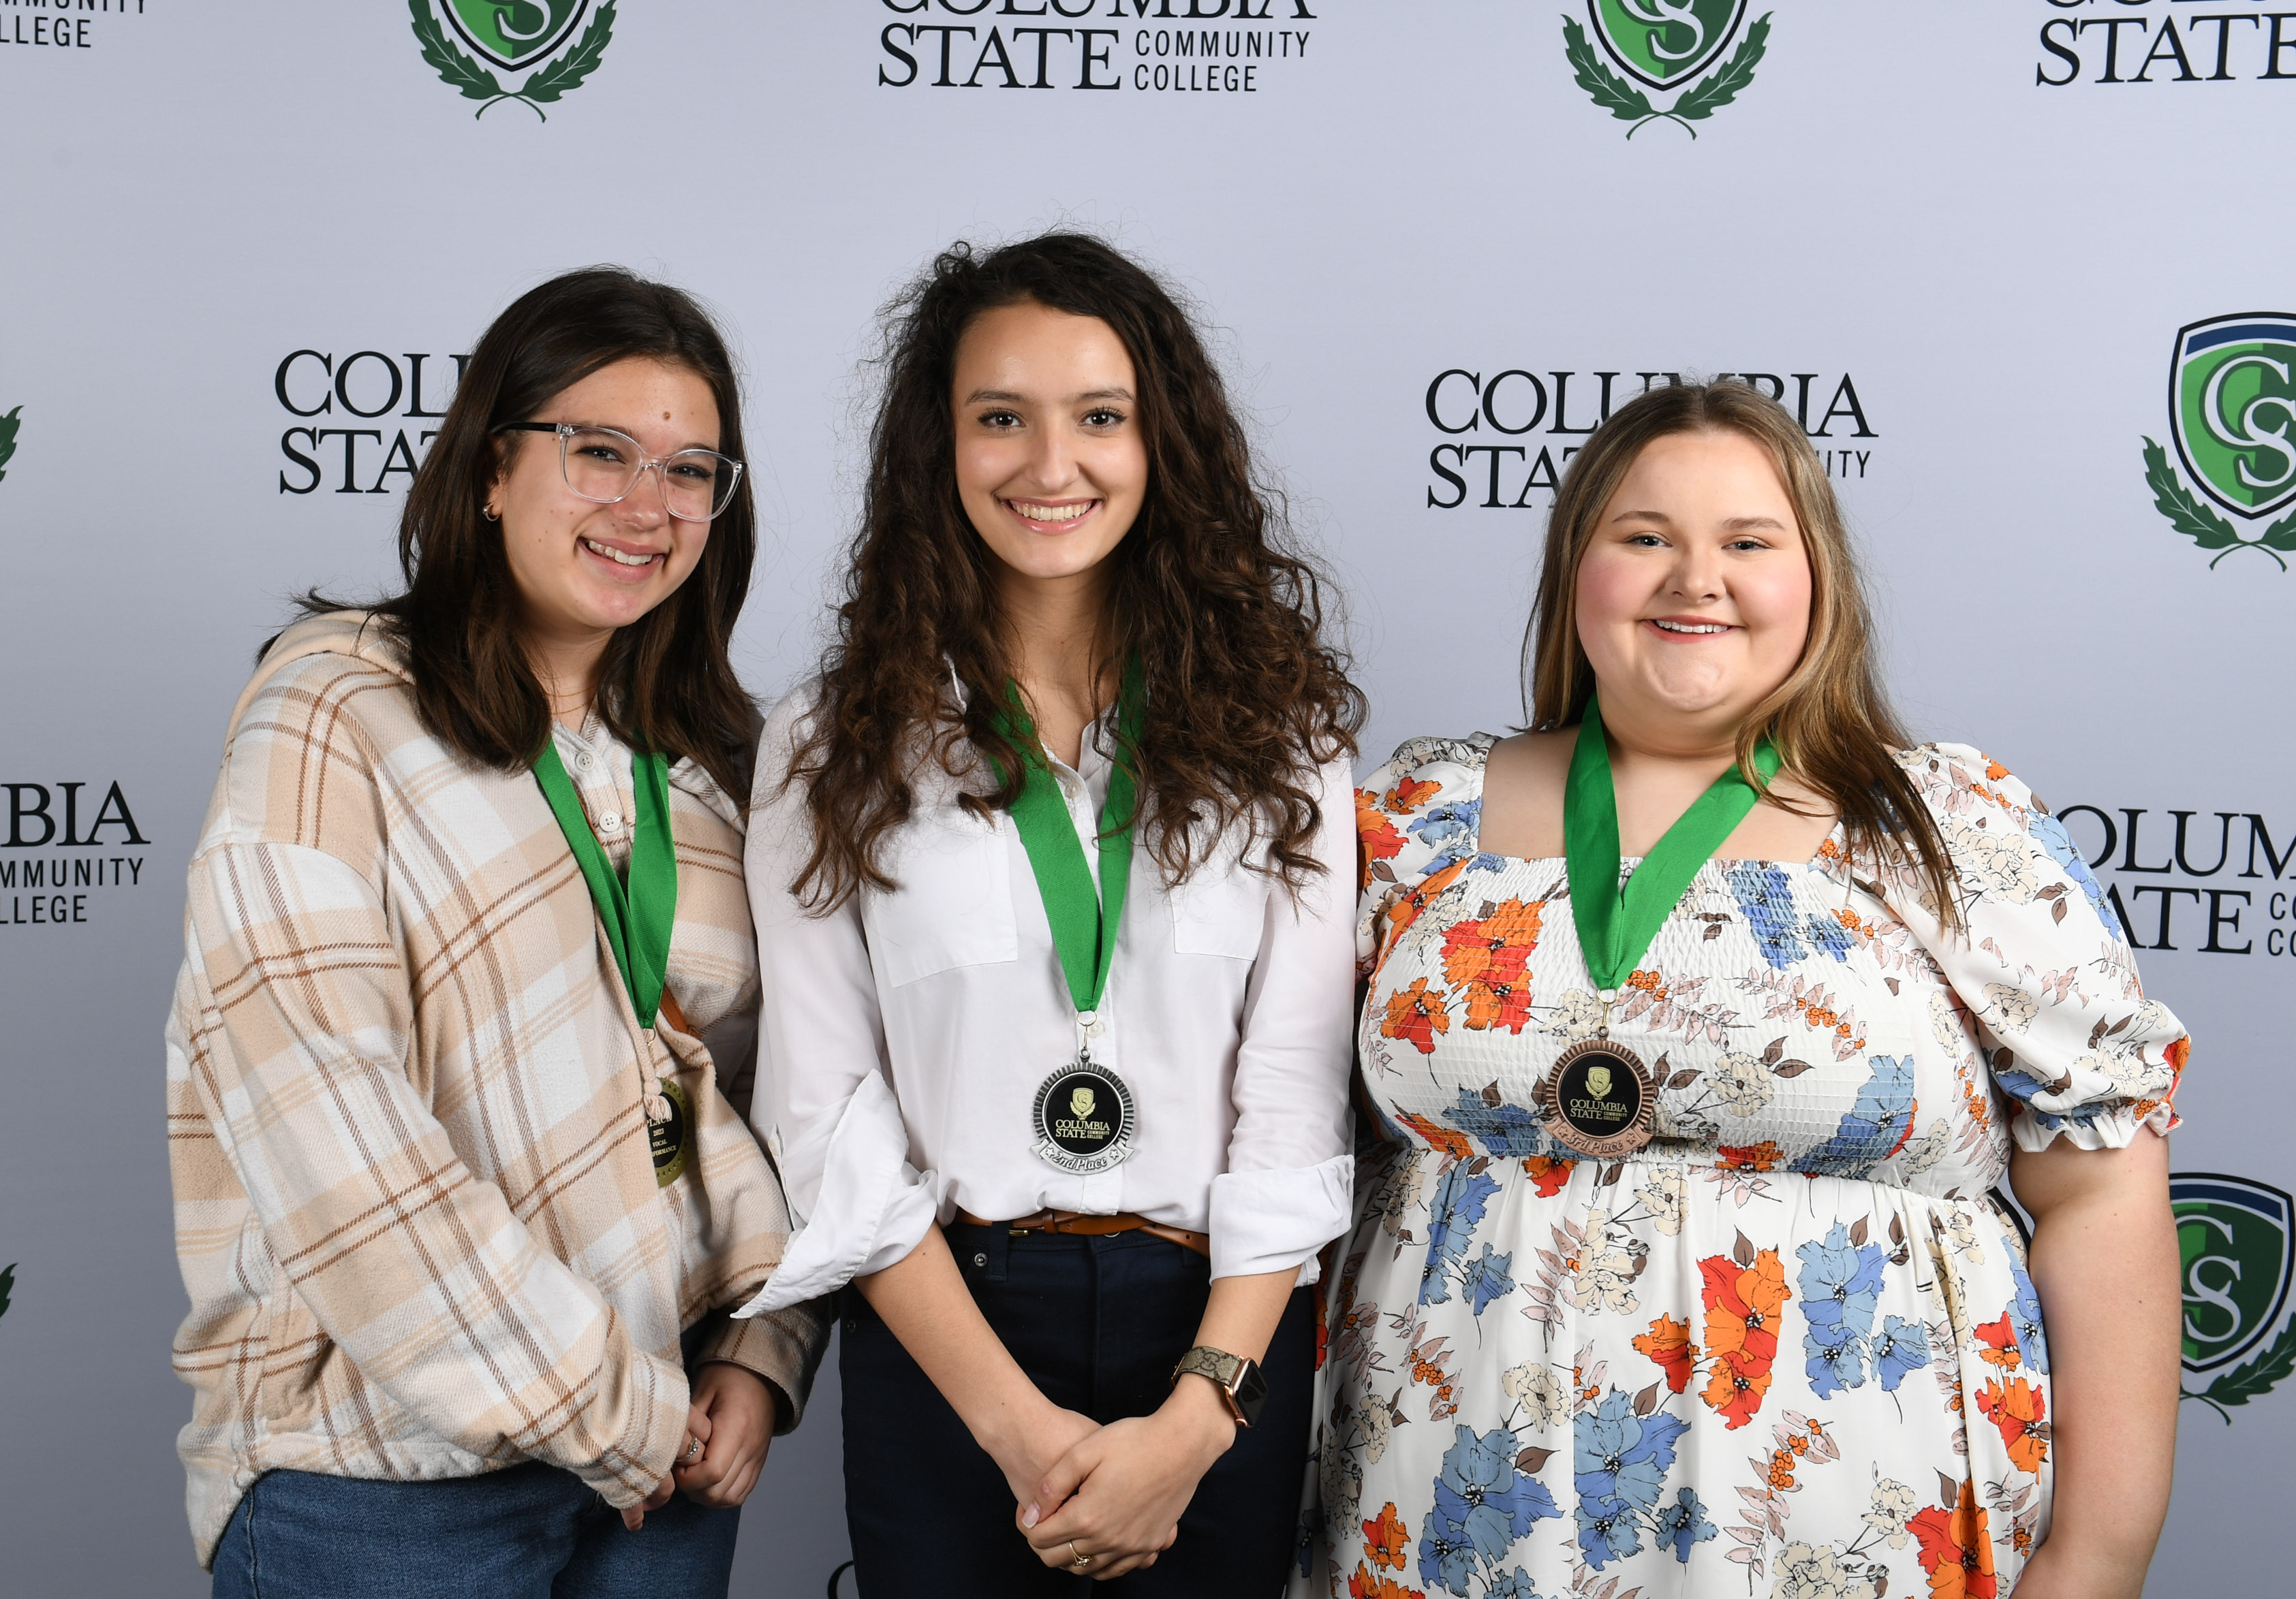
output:
[[[1619,411],[1527,665],[1531,732],[1412,739],[1359,796],[1387,1154],[1332,1289],[1311,1588],[2133,1599],[2186,1037],[2048,808],[1908,748],[1793,418]],[[1614,817],[1655,874],[1708,785],[1743,819],[1676,851],[1637,945],[1589,840]],[[1589,1136],[1637,1071],[1649,1120]]]

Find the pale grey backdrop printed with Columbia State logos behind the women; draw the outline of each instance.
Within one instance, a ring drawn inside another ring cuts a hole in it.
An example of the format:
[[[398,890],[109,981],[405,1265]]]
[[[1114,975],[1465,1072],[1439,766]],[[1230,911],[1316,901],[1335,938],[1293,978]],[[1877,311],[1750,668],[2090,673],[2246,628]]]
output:
[[[1345,592],[1366,762],[1520,718],[1554,479],[1729,374],[1802,418],[1894,691],[2069,817],[2197,1035],[2156,1594],[2264,1592],[2296,1420],[2289,0],[0,0],[0,1588],[204,1592],[161,1019],[225,713],[390,580],[478,330],[590,262],[716,305],[813,658],[872,312],[1100,229],[1217,326]],[[932,1471],[932,1461],[918,1461]],[[898,1484],[886,1484],[898,1491]],[[744,1594],[843,1553],[836,1374]]]

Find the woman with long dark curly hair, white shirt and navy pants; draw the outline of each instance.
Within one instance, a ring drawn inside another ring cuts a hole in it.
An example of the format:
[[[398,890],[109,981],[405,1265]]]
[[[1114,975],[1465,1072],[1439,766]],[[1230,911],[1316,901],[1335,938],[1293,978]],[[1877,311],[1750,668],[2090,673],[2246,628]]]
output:
[[[804,1223],[760,1303],[852,1285],[863,1594],[1267,1594],[1352,1184],[1362,702],[1155,278],[957,245],[886,326],[751,824]]]

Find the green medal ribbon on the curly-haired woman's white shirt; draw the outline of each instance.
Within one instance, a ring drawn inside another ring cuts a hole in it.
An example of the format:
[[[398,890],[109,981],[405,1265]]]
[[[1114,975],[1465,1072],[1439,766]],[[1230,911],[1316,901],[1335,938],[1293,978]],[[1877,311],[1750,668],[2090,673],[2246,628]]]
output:
[[[1070,821],[1061,782],[1045,762],[1035,723],[1022,707],[1019,688],[1006,691],[1008,704],[996,716],[996,732],[1022,752],[1022,789],[1013,801],[1013,826],[1035,869],[1035,892],[1045,899],[1052,922],[1052,947],[1061,952],[1061,975],[1079,1016],[1100,1009],[1109,991],[1109,968],[1116,964],[1116,929],[1125,915],[1125,886],[1132,879],[1132,803],[1137,778],[1132,752],[1143,723],[1143,679],[1139,661],[1125,665],[1116,691],[1116,771],[1109,773],[1109,803],[1100,812],[1100,892],[1084,865],[1084,842]],[[1001,773],[999,773],[1001,775]]]

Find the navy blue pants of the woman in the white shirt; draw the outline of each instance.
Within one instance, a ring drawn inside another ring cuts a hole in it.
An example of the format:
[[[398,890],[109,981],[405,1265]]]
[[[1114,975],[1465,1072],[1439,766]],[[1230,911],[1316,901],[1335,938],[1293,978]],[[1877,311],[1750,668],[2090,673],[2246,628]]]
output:
[[[1146,1232],[1104,1239],[948,1227],[964,1282],[1054,1404],[1097,1422],[1148,1415],[1196,1342],[1212,1269]],[[879,1321],[845,1294],[845,1521],[861,1599],[1274,1599],[1297,1544],[1316,1379],[1316,1301],[1293,1294],[1261,1370],[1267,1409],[1240,1429],[1155,1567],[1107,1583],[1038,1560],[990,1452]]]

